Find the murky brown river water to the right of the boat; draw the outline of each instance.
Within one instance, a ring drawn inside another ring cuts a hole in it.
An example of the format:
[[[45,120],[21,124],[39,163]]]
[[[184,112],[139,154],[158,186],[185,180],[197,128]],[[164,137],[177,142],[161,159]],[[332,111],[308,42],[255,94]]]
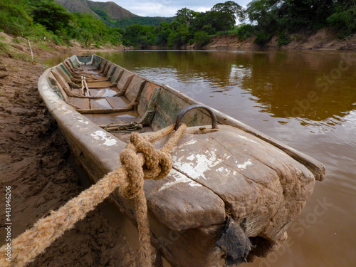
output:
[[[356,266],[356,53],[98,53],[235,117],[323,162],[288,240],[246,267]],[[48,62],[52,65],[53,62]]]

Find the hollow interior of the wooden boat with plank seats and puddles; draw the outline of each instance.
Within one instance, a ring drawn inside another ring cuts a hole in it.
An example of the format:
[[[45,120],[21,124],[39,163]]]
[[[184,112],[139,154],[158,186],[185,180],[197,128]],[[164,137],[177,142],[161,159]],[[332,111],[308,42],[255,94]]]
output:
[[[152,132],[175,123],[197,104],[168,85],[155,83],[99,56],[72,56],[51,70],[51,88],[76,111],[119,139],[128,132]],[[209,112],[192,110],[188,125],[209,125]]]

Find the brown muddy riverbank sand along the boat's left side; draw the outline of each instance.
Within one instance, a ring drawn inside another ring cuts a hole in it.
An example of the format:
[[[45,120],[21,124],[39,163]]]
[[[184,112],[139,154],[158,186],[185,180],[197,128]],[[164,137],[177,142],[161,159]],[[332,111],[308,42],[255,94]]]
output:
[[[68,145],[38,94],[43,66],[6,55],[0,57],[0,64],[6,65],[2,73],[8,74],[0,78],[2,245],[6,243],[6,187],[11,187],[11,239],[84,188],[69,163]],[[96,209],[28,266],[134,266],[118,227]]]

